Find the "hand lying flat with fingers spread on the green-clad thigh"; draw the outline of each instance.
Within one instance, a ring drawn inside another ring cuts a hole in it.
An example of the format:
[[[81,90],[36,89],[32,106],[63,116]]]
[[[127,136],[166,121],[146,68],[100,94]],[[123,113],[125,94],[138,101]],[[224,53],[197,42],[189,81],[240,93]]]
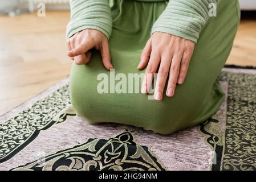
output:
[[[155,32],[141,53],[138,69],[143,69],[148,64],[141,92],[149,92],[154,73],[159,67],[155,86],[155,99],[162,100],[168,75],[166,96],[172,97],[176,84],[184,82],[193,51],[194,43],[192,41],[163,32]]]

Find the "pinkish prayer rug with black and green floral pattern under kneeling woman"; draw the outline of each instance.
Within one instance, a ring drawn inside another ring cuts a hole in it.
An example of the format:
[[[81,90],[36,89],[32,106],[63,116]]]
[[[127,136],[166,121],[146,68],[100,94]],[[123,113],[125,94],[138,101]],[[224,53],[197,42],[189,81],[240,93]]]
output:
[[[68,79],[0,117],[1,170],[255,170],[256,69],[224,68],[212,118],[172,135],[75,115]]]

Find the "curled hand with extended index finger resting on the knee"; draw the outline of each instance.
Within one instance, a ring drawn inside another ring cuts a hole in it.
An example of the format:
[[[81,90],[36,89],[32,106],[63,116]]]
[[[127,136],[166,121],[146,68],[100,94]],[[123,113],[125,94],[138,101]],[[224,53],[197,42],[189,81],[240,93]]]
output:
[[[68,56],[78,65],[87,64],[91,59],[90,49],[95,48],[101,53],[106,69],[112,69],[107,37],[97,30],[86,29],[76,33],[67,40]]]

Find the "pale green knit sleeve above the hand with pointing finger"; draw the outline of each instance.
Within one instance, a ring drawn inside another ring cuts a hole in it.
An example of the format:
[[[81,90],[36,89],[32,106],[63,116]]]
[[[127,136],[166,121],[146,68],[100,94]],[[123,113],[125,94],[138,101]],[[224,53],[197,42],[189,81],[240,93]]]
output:
[[[112,31],[108,0],[71,0],[71,20],[67,25],[67,39],[84,29],[101,31],[107,38]]]

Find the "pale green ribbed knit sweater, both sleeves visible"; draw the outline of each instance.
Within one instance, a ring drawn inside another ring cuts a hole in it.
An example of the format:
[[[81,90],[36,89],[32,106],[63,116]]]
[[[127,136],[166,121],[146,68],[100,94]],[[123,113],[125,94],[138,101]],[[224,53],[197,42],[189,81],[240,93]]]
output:
[[[210,3],[217,5],[218,1],[170,0],[153,25],[151,34],[166,32],[196,43],[202,27],[209,18]],[[67,38],[87,28],[99,30],[107,38],[111,36],[112,18],[108,0],[71,0],[70,5],[71,21],[67,26]]]

